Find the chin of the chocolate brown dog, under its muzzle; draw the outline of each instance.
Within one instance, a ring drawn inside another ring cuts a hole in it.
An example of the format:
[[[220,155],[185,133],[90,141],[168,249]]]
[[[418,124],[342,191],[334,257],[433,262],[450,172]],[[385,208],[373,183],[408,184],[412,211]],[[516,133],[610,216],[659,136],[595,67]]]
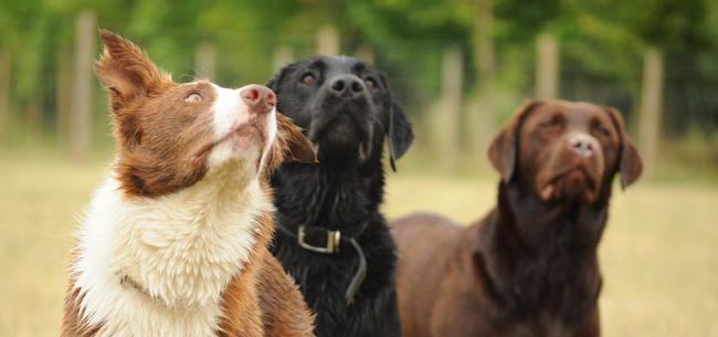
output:
[[[591,203],[599,197],[600,179],[577,167],[538,183],[538,194],[543,201],[583,201]]]

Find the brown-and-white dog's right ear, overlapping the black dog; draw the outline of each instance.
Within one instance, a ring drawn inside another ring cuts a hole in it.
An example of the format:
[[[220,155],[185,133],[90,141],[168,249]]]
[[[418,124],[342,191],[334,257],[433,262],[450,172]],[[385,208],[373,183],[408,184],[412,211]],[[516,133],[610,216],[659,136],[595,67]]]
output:
[[[302,134],[302,129],[292,123],[292,119],[278,113],[277,116],[277,143],[284,149],[284,158],[288,161],[315,164],[317,162],[317,149]]]

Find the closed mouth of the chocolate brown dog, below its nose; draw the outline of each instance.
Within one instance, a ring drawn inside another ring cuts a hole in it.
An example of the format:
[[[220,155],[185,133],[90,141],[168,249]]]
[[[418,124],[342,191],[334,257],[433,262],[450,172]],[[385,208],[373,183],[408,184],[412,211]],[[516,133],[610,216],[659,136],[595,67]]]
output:
[[[545,201],[583,198],[594,201],[600,189],[599,173],[581,161],[578,165],[556,170],[547,178],[538,179],[538,192]]]

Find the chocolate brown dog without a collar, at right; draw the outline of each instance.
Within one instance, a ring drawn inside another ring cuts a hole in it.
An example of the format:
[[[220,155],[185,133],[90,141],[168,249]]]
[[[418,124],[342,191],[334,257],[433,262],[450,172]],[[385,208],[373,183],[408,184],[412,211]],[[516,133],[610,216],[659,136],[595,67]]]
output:
[[[494,139],[498,206],[463,229],[398,220],[399,309],[405,337],[599,336],[596,246],[616,172],[641,158],[619,113],[589,103],[531,102]]]

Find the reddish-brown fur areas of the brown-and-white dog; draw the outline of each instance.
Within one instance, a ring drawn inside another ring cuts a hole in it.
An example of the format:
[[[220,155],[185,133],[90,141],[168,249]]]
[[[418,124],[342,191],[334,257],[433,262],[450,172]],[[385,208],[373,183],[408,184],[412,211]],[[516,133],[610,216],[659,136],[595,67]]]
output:
[[[103,31],[103,56],[95,66],[109,92],[118,159],[114,173],[128,197],[156,198],[201,180],[207,172],[204,149],[212,144],[210,118],[214,99],[209,82],[177,84],[161,73],[131,42]],[[186,104],[198,93],[202,102]],[[265,137],[265,135],[262,135]],[[266,141],[266,139],[263,139]],[[315,162],[314,146],[298,127],[277,114],[277,135],[267,155],[261,187],[270,201],[267,179],[282,161]],[[260,220],[250,261],[222,296],[223,317],[218,336],[314,336],[314,317],[294,281],[268,253],[274,217]],[[72,262],[76,260],[73,255]],[[82,289],[71,275],[65,296],[63,337],[92,337],[102,328],[87,326]]]

